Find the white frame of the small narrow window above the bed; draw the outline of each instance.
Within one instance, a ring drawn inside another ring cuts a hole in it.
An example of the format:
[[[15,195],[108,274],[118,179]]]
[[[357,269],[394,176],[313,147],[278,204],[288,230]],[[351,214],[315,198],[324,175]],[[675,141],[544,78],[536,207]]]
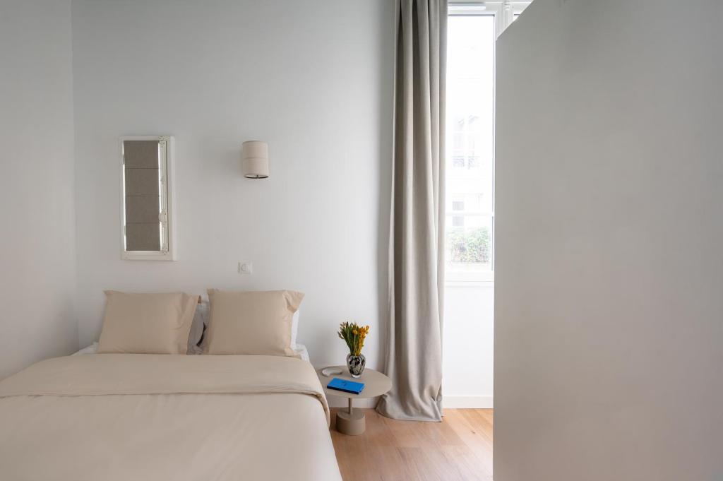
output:
[[[159,163],[159,182],[161,183],[160,209],[163,216],[162,223],[166,224],[166,238],[161,232],[161,250],[126,250],[126,165],[123,153],[125,140],[158,140],[161,148]],[[175,182],[174,182],[174,156],[176,142],[170,135],[153,136],[127,136],[119,137],[119,152],[121,154],[121,259],[123,260],[176,260],[176,222],[175,222]],[[165,192],[165,195],[163,193]]]

